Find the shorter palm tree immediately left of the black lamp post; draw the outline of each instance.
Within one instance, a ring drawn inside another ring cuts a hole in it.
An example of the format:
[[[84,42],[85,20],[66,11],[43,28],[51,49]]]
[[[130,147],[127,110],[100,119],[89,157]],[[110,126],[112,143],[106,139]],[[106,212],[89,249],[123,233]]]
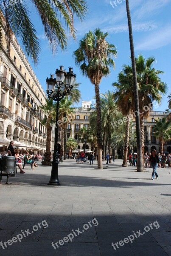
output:
[[[53,100],[45,99],[46,103],[44,106],[40,107],[45,113],[45,117],[42,119],[42,125],[46,125],[46,151],[44,154],[43,165],[51,166],[50,162],[50,143],[51,143],[51,132],[52,126],[56,122],[56,103],[53,103]]]

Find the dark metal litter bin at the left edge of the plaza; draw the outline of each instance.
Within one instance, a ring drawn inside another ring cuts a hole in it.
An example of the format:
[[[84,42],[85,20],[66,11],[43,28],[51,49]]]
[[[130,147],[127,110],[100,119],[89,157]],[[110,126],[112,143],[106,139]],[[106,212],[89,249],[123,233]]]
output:
[[[16,172],[16,157],[0,157],[0,183],[2,177],[6,177],[6,184],[8,184],[8,178],[15,177]]]

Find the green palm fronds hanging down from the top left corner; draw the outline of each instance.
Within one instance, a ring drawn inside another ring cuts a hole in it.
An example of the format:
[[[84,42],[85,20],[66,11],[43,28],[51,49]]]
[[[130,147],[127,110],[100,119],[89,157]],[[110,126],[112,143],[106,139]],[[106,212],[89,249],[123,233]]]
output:
[[[26,54],[37,64],[40,50],[39,39],[36,29],[31,22],[29,5],[26,1],[3,0],[0,4],[0,48],[3,46],[3,32],[5,31],[5,40],[7,52],[10,52],[11,29],[17,37],[21,38],[22,45]],[[31,0],[31,8],[34,8],[42,21],[45,36],[48,38],[53,53],[57,52],[58,47],[61,50],[67,47],[67,32],[61,23],[60,17],[63,17],[66,28],[70,30],[70,35],[75,39],[76,30],[74,28],[74,16],[78,20],[84,20],[87,13],[87,4],[85,0]]]

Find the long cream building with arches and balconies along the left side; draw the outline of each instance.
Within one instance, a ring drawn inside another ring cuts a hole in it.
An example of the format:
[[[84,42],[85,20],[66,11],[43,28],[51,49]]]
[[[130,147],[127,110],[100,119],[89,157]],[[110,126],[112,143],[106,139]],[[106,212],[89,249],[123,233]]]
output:
[[[3,18],[3,17],[2,17]],[[0,138],[45,148],[41,124],[45,91],[12,34],[10,57],[4,40],[0,51]]]

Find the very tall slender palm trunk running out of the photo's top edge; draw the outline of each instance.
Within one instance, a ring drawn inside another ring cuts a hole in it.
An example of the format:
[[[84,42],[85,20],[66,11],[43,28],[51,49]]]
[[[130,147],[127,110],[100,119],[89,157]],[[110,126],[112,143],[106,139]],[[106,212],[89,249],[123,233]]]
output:
[[[135,123],[136,123],[136,134],[137,134],[137,172],[143,172],[143,155],[142,155],[142,143],[141,143],[141,129],[140,129],[140,112],[139,108],[139,98],[138,98],[138,87],[137,87],[137,70],[135,63],[135,53],[134,53],[134,42],[132,36],[132,23],[131,14],[129,10],[129,0],[126,0],[126,12],[128,17],[128,27],[129,27],[129,43],[131,49],[131,60],[132,60],[132,73],[133,73],[133,85],[134,85],[134,102],[135,102]]]

